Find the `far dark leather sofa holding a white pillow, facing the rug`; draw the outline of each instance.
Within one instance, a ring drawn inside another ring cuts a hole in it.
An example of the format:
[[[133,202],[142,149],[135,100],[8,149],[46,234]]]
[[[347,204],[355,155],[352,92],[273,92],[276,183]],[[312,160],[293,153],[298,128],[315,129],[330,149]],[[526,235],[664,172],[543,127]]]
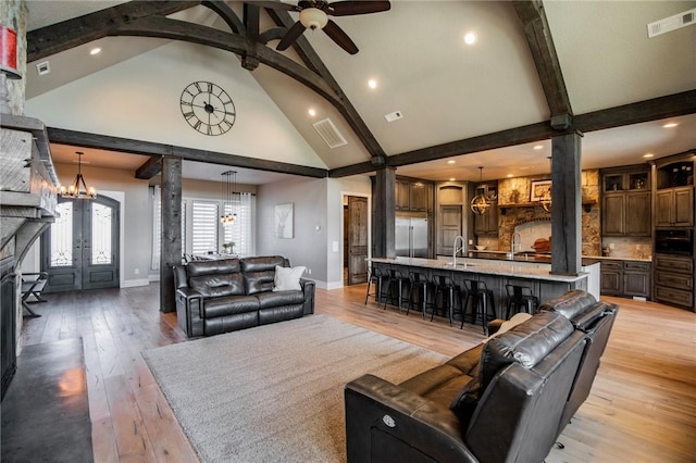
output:
[[[314,313],[314,281],[273,291],[276,265],[290,266],[279,255],[175,265],[179,327],[188,337],[211,336]]]

